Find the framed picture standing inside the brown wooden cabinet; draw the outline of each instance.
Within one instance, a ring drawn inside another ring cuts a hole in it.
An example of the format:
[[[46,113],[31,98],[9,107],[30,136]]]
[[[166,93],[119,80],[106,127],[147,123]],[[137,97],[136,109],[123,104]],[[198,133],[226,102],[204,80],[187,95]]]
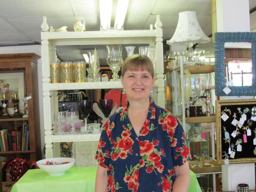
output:
[[[24,71],[0,71],[0,100],[5,94],[7,100],[20,100],[19,110],[24,113],[24,93],[26,90]]]

